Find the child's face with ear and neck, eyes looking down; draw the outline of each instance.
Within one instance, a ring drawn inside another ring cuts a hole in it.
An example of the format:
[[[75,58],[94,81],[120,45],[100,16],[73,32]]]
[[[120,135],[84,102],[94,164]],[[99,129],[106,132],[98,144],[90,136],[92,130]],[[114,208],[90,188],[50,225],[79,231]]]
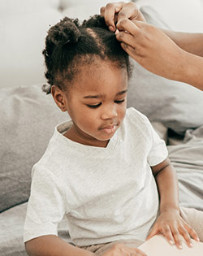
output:
[[[73,122],[65,136],[84,145],[105,147],[125,116],[127,70],[98,61],[81,68],[68,92],[54,86],[52,94]]]

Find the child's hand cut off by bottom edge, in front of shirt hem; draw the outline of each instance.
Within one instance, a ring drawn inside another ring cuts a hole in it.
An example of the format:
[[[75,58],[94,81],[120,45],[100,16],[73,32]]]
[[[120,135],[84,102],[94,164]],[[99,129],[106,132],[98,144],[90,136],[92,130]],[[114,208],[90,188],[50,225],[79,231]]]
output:
[[[147,256],[140,249],[127,247],[123,244],[112,245],[102,256]]]

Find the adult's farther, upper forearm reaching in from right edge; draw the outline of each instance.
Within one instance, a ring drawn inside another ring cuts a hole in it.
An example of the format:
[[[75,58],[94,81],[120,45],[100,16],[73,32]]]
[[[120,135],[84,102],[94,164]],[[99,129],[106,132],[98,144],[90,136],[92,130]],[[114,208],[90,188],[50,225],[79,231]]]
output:
[[[203,57],[203,33],[180,33],[162,29],[176,45],[191,54]]]

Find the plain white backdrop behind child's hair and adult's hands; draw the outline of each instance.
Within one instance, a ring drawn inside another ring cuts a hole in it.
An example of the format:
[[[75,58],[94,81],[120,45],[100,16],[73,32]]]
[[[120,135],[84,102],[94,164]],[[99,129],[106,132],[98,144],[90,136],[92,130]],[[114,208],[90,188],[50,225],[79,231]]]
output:
[[[120,0],[118,0],[119,2]],[[64,15],[80,20],[116,0],[1,0],[0,87],[45,82],[46,31]],[[137,0],[162,15],[171,28],[203,33],[203,0]],[[61,11],[64,9],[63,11]]]

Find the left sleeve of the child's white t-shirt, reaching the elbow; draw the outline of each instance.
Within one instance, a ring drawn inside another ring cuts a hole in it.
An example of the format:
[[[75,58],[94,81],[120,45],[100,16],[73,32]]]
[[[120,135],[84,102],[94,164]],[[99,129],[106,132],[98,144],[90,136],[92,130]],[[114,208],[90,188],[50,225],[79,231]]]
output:
[[[24,242],[38,236],[58,235],[58,223],[65,214],[62,185],[45,167],[32,170],[31,195],[24,223]]]

